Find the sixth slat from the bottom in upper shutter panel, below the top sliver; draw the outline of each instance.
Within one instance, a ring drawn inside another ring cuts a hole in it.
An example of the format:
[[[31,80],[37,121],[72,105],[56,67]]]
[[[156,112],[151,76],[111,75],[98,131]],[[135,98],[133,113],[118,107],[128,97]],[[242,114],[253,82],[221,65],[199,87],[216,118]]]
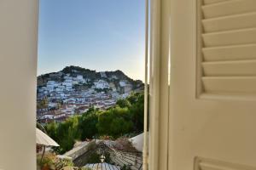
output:
[[[244,14],[256,10],[255,0],[233,0],[224,3],[212,3],[202,6],[205,19],[227,16],[231,14]]]

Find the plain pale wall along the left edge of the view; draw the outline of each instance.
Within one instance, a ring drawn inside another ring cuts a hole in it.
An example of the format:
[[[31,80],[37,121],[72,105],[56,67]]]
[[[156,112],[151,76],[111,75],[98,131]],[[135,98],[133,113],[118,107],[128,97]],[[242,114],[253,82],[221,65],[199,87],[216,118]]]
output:
[[[0,1],[0,169],[36,169],[37,0]]]

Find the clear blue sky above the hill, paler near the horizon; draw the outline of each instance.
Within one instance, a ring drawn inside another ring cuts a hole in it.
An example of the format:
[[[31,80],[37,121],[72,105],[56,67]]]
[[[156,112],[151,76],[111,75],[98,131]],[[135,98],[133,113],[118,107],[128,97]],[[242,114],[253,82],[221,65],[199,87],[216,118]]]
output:
[[[40,0],[38,75],[78,65],[144,75],[144,0]]]

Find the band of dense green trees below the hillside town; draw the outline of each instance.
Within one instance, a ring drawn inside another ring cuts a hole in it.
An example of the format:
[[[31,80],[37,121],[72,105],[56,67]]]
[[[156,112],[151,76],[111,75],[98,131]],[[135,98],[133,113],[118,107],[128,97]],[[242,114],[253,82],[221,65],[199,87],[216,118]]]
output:
[[[51,122],[45,130],[60,147],[55,151],[65,153],[73,148],[76,140],[93,139],[96,136],[108,136],[117,139],[121,136],[143,132],[143,94],[131,94],[127,99],[119,100],[115,107],[107,111],[90,108],[82,116],[73,116],[65,122]]]

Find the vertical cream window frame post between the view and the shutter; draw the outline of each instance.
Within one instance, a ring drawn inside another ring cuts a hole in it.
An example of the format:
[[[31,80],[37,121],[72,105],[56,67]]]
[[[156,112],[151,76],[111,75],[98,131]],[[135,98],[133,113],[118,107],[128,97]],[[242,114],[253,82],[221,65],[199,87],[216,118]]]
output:
[[[171,0],[150,1],[148,169],[168,169]]]

